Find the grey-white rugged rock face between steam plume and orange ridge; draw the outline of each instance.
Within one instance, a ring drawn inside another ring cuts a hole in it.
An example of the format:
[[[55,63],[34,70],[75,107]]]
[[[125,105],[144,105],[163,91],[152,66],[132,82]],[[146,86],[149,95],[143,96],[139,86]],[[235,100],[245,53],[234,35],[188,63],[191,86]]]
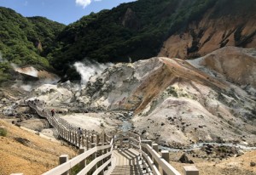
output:
[[[92,77],[79,94],[78,101],[84,106],[102,110],[136,110],[145,95],[138,89],[151,86],[147,85],[148,77],[161,65],[159,59],[114,65],[101,76]]]

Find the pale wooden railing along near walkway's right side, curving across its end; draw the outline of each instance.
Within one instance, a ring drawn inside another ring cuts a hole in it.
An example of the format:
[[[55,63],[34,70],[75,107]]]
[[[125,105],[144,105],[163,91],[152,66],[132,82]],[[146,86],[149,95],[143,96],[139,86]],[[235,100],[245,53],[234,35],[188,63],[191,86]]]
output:
[[[114,137],[114,146],[122,148],[134,148],[139,150],[143,163],[143,169],[148,174],[154,175],[181,175],[180,172],[169,163],[169,151],[161,150],[159,154],[158,144],[153,144],[151,140],[141,140],[136,133],[119,132]],[[185,175],[197,175],[199,171],[195,166],[183,167]]]

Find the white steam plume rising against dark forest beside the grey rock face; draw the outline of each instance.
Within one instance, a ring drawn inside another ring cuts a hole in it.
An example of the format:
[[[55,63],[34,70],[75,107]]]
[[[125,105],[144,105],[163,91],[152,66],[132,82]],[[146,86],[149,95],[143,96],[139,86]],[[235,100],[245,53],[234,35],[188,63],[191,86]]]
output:
[[[112,63],[100,64],[96,61],[84,60],[83,62],[76,62],[74,64],[76,71],[81,75],[81,84],[86,85],[90,79],[90,76],[99,75]]]

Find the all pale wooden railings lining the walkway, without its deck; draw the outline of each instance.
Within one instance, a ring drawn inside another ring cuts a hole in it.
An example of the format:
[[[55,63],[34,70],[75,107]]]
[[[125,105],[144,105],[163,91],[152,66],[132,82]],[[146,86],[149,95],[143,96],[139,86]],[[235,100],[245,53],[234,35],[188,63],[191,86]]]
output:
[[[43,109],[39,109],[37,103],[28,103],[28,105],[36,110],[39,116],[46,118],[49,124],[55,127],[61,138],[80,148],[79,155],[70,161],[68,161],[68,155],[61,155],[61,165],[44,172],[44,175],[67,175],[76,165],[80,167],[78,175],[88,172],[93,175],[103,174],[112,165],[111,157],[115,148],[138,150],[142,161],[142,165],[138,165],[138,167],[146,170],[145,173],[149,175],[181,175],[169,164],[168,151],[162,150],[160,155],[158,144],[153,144],[150,140],[141,140],[141,137],[136,133],[119,132],[114,136],[108,136],[106,133],[98,134],[83,130],[83,134],[79,135],[77,133],[78,128],[71,126],[59,117],[50,116]],[[193,166],[184,167],[184,174],[198,175],[199,172]]]

